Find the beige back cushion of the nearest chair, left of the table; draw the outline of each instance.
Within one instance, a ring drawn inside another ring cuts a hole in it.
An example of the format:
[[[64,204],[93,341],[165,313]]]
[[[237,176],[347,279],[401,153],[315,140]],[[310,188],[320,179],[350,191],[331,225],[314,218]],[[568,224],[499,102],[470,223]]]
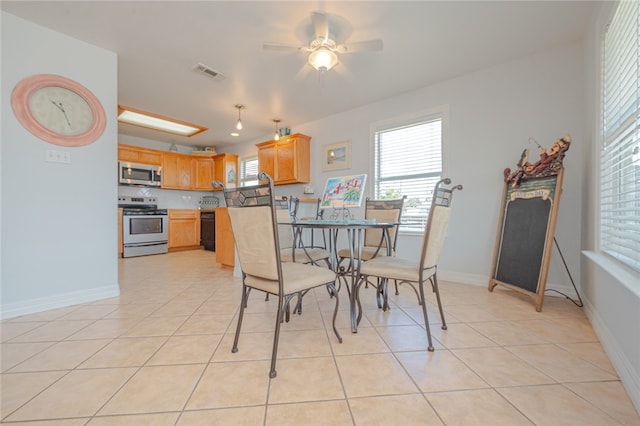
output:
[[[271,206],[229,208],[228,212],[242,272],[275,280],[277,287],[278,257]]]

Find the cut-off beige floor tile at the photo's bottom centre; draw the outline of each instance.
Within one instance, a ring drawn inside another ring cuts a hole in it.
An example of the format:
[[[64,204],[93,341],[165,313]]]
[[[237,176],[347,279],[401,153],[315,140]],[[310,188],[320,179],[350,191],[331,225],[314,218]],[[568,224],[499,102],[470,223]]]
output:
[[[266,426],[352,426],[346,401],[270,405]]]

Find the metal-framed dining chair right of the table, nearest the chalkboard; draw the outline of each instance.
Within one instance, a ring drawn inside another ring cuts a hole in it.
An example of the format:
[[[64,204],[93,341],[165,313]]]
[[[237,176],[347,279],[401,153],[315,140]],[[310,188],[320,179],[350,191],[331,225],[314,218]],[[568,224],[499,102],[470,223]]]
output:
[[[356,300],[358,303],[358,322],[362,318],[362,305],[360,303],[360,287],[368,282],[375,286],[378,294],[385,298],[385,305],[388,306],[386,287],[389,280],[396,280],[400,285],[408,284],[413,288],[418,298],[418,304],[422,306],[424,324],[427,332],[428,349],[433,351],[431,330],[429,328],[429,318],[427,317],[427,302],[424,295],[424,283],[430,282],[431,289],[436,295],[440,317],[442,319],[442,329],[447,329],[444,319],[444,311],[440,300],[440,290],[438,289],[438,260],[444,246],[449,218],[451,216],[451,200],[454,190],[462,190],[462,185],[451,188],[441,186],[451,185],[451,179],[445,178],[438,181],[433,191],[431,208],[422,237],[422,250],[420,256],[415,259],[403,259],[392,256],[377,256],[374,259],[363,262],[360,266],[360,275],[356,286]],[[377,283],[370,281],[376,278]],[[417,286],[417,288],[416,288]],[[382,289],[381,289],[382,287]]]

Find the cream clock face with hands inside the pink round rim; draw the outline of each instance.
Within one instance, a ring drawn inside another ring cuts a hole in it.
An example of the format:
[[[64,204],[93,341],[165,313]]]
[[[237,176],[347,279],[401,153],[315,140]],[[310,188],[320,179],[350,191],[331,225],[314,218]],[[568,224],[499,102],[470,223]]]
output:
[[[29,98],[33,118],[53,132],[78,135],[93,124],[93,111],[84,98],[64,87],[45,86]]]

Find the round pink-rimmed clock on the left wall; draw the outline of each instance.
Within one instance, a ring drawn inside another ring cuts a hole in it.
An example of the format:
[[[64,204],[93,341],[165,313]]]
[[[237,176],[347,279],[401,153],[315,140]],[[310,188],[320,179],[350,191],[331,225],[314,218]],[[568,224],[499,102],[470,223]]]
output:
[[[59,75],[25,78],[13,89],[11,106],[28,131],[56,145],[88,145],[102,135],[107,123],[98,98]]]

